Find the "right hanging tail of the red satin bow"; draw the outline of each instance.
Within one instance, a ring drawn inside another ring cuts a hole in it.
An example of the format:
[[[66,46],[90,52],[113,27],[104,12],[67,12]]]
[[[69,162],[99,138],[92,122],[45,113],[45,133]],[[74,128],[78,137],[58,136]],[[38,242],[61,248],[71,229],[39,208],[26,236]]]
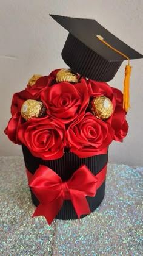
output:
[[[70,198],[73,207],[75,208],[76,214],[78,215],[78,219],[80,219],[80,216],[83,214],[91,213],[87,199],[83,194],[77,194],[77,191],[72,190],[72,192],[70,193]]]

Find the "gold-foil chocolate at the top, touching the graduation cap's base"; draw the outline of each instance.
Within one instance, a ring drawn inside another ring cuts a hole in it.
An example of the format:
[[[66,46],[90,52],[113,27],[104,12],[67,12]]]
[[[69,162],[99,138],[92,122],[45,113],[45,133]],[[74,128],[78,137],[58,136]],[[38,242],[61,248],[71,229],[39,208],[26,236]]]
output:
[[[78,83],[78,76],[71,72],[71,69],[61,69],[56,74],[56,82]]]

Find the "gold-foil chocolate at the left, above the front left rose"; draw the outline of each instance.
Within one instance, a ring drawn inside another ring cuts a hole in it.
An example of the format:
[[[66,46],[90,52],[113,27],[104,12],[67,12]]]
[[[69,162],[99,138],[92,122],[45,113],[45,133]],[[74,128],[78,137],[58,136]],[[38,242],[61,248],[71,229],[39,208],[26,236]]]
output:
[[[21,116],[26,121],[31,118],[40,118],[45,115],[45,110],[43,102],[27,99],[21,107]]]

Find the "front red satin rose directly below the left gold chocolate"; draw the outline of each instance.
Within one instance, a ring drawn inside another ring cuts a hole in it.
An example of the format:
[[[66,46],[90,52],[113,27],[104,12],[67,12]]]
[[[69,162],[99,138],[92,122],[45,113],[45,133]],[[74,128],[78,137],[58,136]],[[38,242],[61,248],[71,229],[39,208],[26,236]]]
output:
[[[54,160],[64,154],[65,126],[56,119],[33,118],[19,126],[18,140],[35,157]]]

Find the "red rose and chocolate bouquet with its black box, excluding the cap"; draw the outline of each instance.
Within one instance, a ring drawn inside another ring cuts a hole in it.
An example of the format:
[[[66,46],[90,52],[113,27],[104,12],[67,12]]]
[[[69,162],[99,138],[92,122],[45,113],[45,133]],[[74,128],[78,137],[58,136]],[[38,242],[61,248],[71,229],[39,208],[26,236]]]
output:
[[[44,215],[49,223],[60,211],[59,218],[79,218],[100,204],[104,192],[96,203],[90,199],[96,199],[96,190],[105,181],[108,146],[122,141],[128,131],[122,104],[118,89],[66,69],[33,76],[25,90],[13,95],[5,134],[22,145],[32,199],[38,206],[34,216]],[[65,217],[63,207],[65,212],[72,207],[74,216]]]

